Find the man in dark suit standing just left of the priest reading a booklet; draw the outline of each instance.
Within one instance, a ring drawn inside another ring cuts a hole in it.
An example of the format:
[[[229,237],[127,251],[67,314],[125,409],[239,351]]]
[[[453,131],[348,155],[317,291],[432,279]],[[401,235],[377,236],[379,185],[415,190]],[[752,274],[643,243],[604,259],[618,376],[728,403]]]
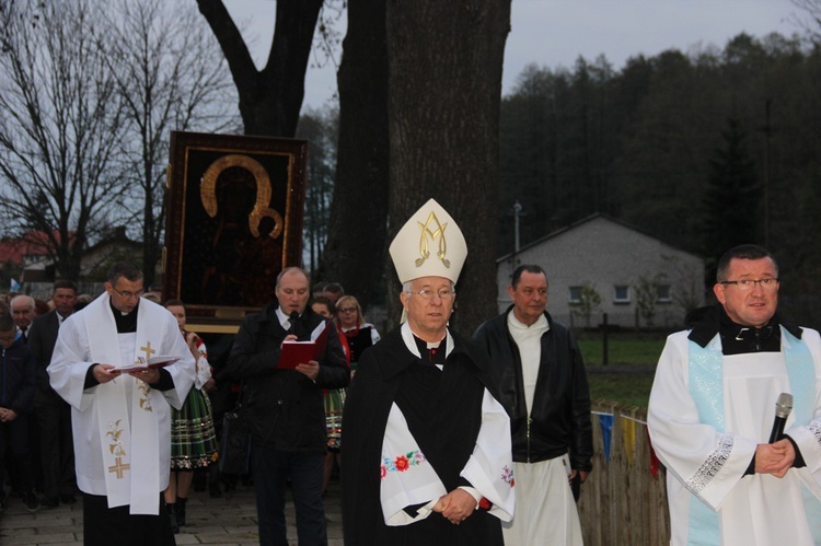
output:
[[[77,288],[70,280],[58,280],[51,293],[54,311],[39,315],[32,323],[28,347],[35,367],[34,413],[39,434],[39,456],[43,467],[44,507],[54,508],[62,501],[73,504],[77,478],[74,477],[74,449],[71,438],[71,406],[60,398],[48,383],[46,369],[57,342],[62,321],[74,312]]]

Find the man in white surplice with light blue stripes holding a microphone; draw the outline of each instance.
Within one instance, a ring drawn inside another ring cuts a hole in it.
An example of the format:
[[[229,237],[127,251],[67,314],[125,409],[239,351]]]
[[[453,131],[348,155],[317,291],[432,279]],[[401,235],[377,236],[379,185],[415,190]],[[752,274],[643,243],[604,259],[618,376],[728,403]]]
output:
[[[650,393],[671,544],[821,544],[821,338],[776,313],[778,266],[764,248],[732,248],[716,277],[719,304],[668,338]],[[780,393],[794,408],[770,443]]]

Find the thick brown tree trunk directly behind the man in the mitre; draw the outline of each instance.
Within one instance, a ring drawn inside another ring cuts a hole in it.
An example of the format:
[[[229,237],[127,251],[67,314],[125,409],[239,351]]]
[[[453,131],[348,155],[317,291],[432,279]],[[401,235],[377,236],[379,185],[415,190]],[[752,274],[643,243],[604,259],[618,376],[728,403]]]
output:
[[[389,234],[430,197],[450,212],[469,252],[451,324],[470,335],[497,314],[499,102],[510,0],[389,0],[386,21]],[[389,302],[396,302],[398,282],[389,278]]]

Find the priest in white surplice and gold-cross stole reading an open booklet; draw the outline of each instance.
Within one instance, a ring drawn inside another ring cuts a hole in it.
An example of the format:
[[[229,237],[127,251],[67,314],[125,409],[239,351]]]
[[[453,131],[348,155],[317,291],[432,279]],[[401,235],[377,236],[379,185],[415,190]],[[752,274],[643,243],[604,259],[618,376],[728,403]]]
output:
[[[142,272],[112,267],[106,293],[60,327],[49,381],[71,406],[85,544],[174,544],[159,516],[171,457],[171,406],[194,382],[194,359],[176,320],[140,298]],[[118,372],[139,358],[178,358],[165,368]]]

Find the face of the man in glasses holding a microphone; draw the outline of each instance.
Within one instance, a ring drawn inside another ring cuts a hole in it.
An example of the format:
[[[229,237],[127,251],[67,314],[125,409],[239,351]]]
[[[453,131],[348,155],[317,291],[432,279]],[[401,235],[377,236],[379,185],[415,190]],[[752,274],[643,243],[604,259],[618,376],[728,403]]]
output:
[[[732,258],[727,269],[727,281],[775,279],[778,271],[768,257],[760,259]],[[775,314],[778,306],[778,282],[765,288],[754,282],[745,290],[740,284],[717,282],[713,292],[724,305],[727,316],[742,326],[760,328]]]

